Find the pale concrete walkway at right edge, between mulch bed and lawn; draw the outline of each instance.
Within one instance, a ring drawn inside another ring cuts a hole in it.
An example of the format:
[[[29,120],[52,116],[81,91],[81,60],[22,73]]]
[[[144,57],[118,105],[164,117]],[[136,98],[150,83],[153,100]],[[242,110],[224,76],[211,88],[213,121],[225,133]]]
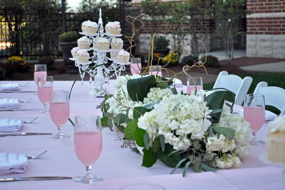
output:
[[[285,72],[285,61],[240,67],[246,71]]]

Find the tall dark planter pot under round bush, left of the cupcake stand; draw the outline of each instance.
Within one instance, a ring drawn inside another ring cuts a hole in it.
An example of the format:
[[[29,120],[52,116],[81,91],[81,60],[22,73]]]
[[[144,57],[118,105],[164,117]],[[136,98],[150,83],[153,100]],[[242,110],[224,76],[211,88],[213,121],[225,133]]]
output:
[[[69,74],[75,74],[78,73],[77,67],[74,65],[74,61],[69,60],[69,58],[72,58],[71,50],[73,47],[77,47],[76,42],[60,42],[59,43],[61,52],[62,52],[62,58],[66,67],[66,72]]]

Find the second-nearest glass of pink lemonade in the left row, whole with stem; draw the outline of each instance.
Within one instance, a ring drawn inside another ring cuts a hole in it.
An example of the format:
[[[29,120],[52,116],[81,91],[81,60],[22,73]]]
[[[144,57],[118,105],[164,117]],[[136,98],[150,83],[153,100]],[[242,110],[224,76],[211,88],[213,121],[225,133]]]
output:
[[[53,139],[67,139],[70,136],[61,132],[62,126],[69,118],[69,95],[68,91],[50,92],[50,118],[58,128],[58,133],[50,135]]]

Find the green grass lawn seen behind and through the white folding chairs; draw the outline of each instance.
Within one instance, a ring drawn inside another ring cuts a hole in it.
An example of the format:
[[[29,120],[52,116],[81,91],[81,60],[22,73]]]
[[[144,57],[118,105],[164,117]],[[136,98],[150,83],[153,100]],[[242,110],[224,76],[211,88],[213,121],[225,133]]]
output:
[[[285,73],[256,73],[249,75],[238,75],[241,78],[246,76],[252,77],[252,83],[249,87],[248,94],[252,94],[257,84],[261,81],[267,82],[268,86],[278,86],[280,88],[285,89]],[[203,84],[204,89],[212,89],[214,83],[205,83]],[[228,101],[232,101],[232,95],[230,93],[227,94],[226,99]],[[280,111],[272,106],[266,106],[266,110],[269,110],[273,113],[280,114]]]

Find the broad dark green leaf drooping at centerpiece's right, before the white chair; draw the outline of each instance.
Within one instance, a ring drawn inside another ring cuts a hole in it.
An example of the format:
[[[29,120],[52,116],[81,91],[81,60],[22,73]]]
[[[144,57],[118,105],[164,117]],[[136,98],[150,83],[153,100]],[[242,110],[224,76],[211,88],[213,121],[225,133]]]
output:
[[[226,98],[226,91],[216,91],[206,97],[207,106],[210,110],[223,109],[224,101]],[[213,122],[218,123],[221,117],[221,112],[219,113],[211,113],[213,116]]]

